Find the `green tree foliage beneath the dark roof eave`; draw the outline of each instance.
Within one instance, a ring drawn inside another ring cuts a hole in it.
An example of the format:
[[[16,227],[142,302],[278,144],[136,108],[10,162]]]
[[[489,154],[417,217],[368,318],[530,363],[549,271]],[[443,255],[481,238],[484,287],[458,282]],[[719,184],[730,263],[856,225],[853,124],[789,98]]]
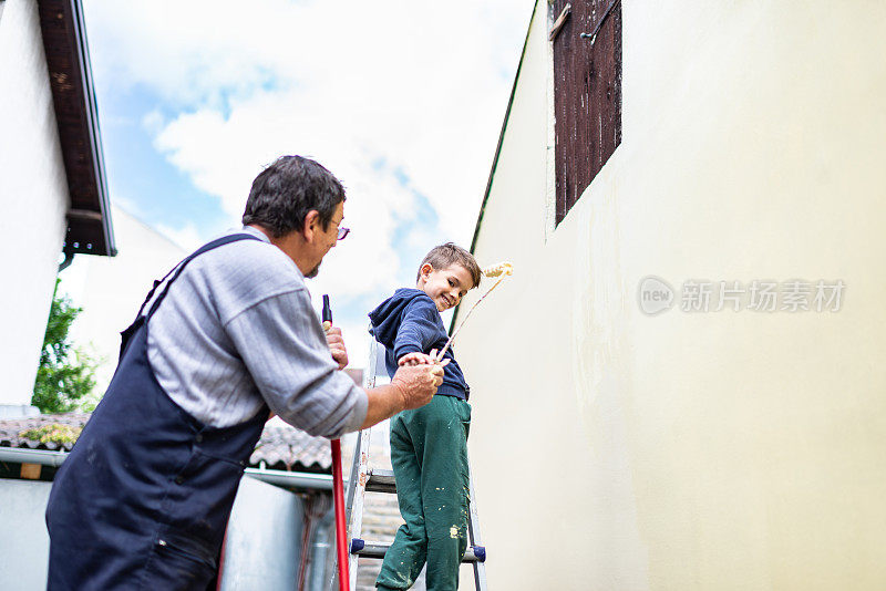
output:
[[[56,279],[31,398],[31,404],[41,413],[74,411],[89,401],[87,396],[95,386],[95,363],[68,338],[71,323],[82,311],[82,308],[72,305],[66,296],[59,294]]]

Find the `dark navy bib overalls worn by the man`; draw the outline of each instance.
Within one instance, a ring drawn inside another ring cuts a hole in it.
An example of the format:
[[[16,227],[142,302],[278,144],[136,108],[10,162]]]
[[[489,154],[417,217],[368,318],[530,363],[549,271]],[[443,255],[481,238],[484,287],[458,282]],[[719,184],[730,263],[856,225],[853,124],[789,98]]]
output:
[[[234,497],[268,408],[233,427],[203,425],[154,376],[147,325],[190,260],[246,239],[258,240],[226,236],[186,258],[147,314],[140,310],[123,332],[107,393],[52,486],[48,589],[203,591],[214,580]]]

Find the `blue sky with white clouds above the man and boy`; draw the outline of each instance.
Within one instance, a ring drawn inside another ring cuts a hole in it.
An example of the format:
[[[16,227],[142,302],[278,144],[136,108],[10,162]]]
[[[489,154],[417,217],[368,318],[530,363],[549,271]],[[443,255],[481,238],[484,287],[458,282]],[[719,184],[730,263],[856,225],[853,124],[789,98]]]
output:
[[[189,249],[277,156],[315,157],[352,232],[310,289],[362,365],[367,312],[432,246],[470,245],[532,8],[87,0],[112,201]]]

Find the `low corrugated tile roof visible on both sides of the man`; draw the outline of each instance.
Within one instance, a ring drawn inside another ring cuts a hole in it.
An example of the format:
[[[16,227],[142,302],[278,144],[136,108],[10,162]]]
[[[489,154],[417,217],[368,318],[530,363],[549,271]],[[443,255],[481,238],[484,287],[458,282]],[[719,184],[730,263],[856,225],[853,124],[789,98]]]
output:
[[[0,447],[70,452],[89,418],[89,413],[65,413],[0,421]],[[249,465],[331,474],[332,455],[326,438],[313,437],[286,424],[271,424],[265,426]]]

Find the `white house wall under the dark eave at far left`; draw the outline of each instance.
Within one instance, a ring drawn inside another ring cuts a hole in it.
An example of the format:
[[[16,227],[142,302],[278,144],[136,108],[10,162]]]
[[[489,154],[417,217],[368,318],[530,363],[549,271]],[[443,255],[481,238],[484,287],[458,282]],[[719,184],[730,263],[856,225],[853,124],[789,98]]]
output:
[[[24,405],[69,205],[35,0],[4,2],[0,72],[0,405]]]

